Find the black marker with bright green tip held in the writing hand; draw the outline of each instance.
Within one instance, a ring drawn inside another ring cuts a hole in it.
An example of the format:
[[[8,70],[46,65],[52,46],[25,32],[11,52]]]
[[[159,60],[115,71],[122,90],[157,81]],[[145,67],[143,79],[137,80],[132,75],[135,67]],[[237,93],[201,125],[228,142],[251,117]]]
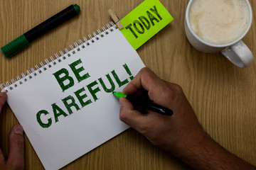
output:
[[[150,101],[142,101],[141,99],[137,98],[136,96],[133,95],[126,95],[123,94],[122,92],[113,92],[114,96],[117,96],[117,98],[127,98],[129,102],[136,106],[141,106],[142,108],[145,108],[150,111],[154,111],[156,113],[160,113],[162,115],[173,115],[173,111],[171,111],[169,108],[165,108],[164,106],[159,106],[156,103],[150,102]]]

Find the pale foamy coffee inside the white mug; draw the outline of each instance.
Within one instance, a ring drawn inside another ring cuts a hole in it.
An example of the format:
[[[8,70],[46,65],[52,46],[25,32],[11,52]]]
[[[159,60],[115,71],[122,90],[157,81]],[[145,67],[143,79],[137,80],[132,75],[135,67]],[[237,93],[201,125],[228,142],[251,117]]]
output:
[[[250,11],[245,0],[195,0],[189,11],[189,22],[202,40],[225,45],[246,32]]]

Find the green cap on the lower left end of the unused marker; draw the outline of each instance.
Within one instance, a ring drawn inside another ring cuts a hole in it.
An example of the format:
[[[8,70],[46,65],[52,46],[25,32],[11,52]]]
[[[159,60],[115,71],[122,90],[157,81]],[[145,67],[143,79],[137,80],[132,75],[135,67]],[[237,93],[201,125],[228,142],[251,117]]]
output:
[[[26,39],[25,35],[21,35],[15,40],[9,42],[7,45],[4,45],[4,47],[1,47],[1,51],[7,58],[9,58],[28,45],[29,42]]]

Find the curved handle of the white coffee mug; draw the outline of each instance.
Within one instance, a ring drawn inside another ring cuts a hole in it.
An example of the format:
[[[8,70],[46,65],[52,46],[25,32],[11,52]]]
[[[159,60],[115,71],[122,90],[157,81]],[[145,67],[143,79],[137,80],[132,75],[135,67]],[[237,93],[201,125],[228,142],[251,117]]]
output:
[[[252,52],[242,40],[233,46],[226,47],[221,53],[230,62],[241,68],[247,67],[253,61]]]

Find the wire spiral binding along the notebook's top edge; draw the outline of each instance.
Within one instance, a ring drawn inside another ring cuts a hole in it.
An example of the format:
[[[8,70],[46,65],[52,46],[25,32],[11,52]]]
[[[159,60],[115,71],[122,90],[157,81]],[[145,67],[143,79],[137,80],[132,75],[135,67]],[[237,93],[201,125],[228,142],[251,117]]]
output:
[[[25,83],[26,81],[29,81],[29,79],[33,79],[33,77],[38,76],[38,74],[45,72],[47,69],[50,69],[51,67],[53,67],[53,65],[62,62],[67,57],[74,55],[76,52],[79,52],[80,50],[91,45],[97,40],[100,40],[100,38],[104,38],[105,35],[113,32],[114,29],[117,29],[117,26],[112,21],[110,23],[107,23],[106,26],[107,28],[105,28],[105,26],[102,26],[102,31],[100,29],[97,29],[97,33],[93,32],[92,35],[89,34],[88,40],[86,37],[83,37],[83,40],[78,40],[78,42],[74,42],[74,47],[73,45],[69,45],[69,50],[68,48],[64,49],[65,53],[63,51],[59,51],[59,54],[54,54],[55,58],[53,56],[50,56],[50,60],[45,59],[46,64],[40,62],[39,64],[41,67],[38,67],[38,65],[36,64],[35,68],[31,67],[31,69],[26,70],[26,75],[24,73],[21,73],[21,76],[18,75],[16,78],[11,79],[11,82],[6,81],[6,83],[0,84],[1,91],[8,93],[17,86]]]

